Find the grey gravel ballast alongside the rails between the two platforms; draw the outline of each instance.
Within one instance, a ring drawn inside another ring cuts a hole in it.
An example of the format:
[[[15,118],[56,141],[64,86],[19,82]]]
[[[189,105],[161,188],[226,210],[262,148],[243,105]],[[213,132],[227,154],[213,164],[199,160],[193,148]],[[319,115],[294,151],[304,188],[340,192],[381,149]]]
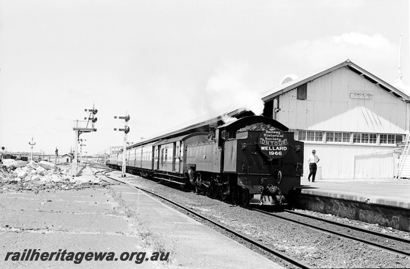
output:
[[[116,174],[120,172],[112,172]],[[319,268],[410,268],[410,259],[376,249],[364,243],[317,230],[302,227],[285,220],[275,219],[220,200],[211,199],[193,192],[183,192],[157,182],[130,176],[136,185],[181,203],[188,208],[230,226],[279,250],[284,254]],[[366,229],[410,238],[409,233],[395,231],[359,221],[347,220],[331,215],[300,211],[338,222],[365,227]]]

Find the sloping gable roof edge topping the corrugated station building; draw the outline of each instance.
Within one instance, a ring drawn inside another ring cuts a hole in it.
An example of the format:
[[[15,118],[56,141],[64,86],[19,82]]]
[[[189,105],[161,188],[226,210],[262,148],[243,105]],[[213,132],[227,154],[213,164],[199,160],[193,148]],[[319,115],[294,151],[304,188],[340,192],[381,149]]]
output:
[[[306,82],[312,81],[318,77],[324,76],[326,74],[329,74],[332,71],[335,71],[336,69],[346,67],[350,69],[351,71],[359,74],[362,76],[364,79],[367,79],[368,81],[372,82],[373,84],[379,86],[381,89],[384,91],[388,92],[389,94],[394,95],[397,98],[402,98],[403,101],[410,100],[410,97],[406,95],[403,91],[401,91],[398,88],[393,87],[392,85],[388,84],[384,80],[378,78],[377,76],[371,74],[370,72],[367,72],[363,68],[357,66],[354,64],[350,59],[347,59],[345,61],[342,61],[341,63],[334,65],[332,67],[320,70],[316,73],[310,74],[308,76],[304,76],[289,82],[286,82],[285,84],[282,84],[278,87],[275,87],[269,91],[266,91],[262,93],[262,100],[264,102],[270,101],[274,99],[276,96],[283,94],[285,92],[289,92],[298,86],[305,84]]]

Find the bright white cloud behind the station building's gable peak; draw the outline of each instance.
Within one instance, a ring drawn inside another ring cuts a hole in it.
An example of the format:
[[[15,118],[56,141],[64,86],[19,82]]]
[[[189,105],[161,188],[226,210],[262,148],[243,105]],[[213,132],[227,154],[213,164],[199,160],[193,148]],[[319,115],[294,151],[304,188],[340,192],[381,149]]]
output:
[[[391,75],[380,78],[393,82],[397,73],[398,45],[380,33],[348,32],[313,40],[297,40],[279,48],[279,55],[282,61],[299,63],[292,65],[292,70],[285,71],[299,77],[351,59],[376,76],[391,70]]]

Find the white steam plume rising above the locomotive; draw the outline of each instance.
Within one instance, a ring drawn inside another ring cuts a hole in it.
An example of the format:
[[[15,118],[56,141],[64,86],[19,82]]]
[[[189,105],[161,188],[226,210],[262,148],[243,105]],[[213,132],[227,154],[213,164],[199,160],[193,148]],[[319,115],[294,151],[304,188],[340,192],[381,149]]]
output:
[[[217,113],[222,109],[225,109],[224,112],[239,109],[252,111],[255,115],[263,113],[264,104],[260,93],[245,81],[248,70],[246,64],[227,64],[215,70],[206,90],[209,113]]]

